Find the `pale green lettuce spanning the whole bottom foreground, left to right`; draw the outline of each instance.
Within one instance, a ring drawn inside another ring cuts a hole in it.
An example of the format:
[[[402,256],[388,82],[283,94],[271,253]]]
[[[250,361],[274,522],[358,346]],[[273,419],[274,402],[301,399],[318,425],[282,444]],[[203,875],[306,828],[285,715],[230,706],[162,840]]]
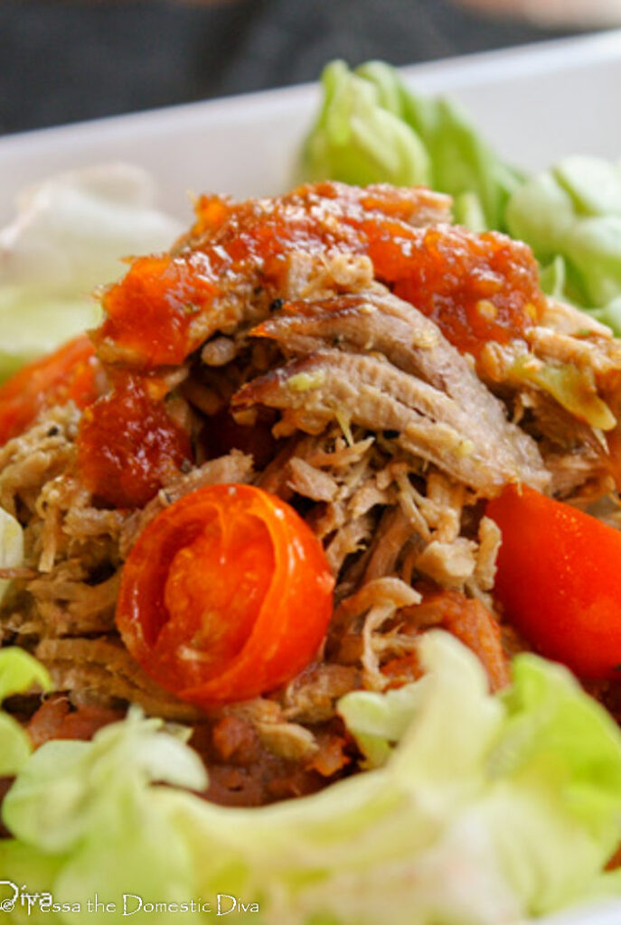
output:
[[[193,752],[135,713],[92,743],[43,746],[6,797],[15,838],[0,842],[0,870],[57,902],[202,897],[211,912],[187,915],[197,922],[218,894],[229,907],[235,897],[264,925],[516,925],[618,895],[619,878],[602,873],[621,836],[621,734],[608,714],[535,656],[518,657],[513,685],[491,696],[452,636],[419,647],[416,684],[341,701],[374,769],[314,796],[206,803],[182,789],[205,785]]]

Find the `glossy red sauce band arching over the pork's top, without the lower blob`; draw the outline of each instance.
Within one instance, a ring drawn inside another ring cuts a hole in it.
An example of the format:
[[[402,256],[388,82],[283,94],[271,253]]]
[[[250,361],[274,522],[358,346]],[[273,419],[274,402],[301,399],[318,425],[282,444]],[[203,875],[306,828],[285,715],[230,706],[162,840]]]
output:
[[[231,295],[260,288],[277,296],[299,252],[367,254],[376,277],[463,350],[521,334],[542,307],[528,248],[495,232],[417,228],[410,221],[424,214],[426,197],[433,194],[329,182],[244,203],[203,197],[180,253],[140,258],[107,292],[100,355],[136,369],[182,363],[215,329],[234,325]]]

